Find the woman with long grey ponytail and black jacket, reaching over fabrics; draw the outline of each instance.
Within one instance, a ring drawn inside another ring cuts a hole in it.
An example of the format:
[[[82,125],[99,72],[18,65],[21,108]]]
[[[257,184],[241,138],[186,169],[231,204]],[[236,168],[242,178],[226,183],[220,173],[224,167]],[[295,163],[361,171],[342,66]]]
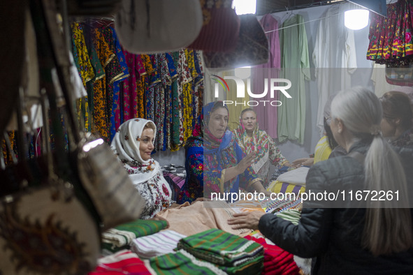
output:
[[[384,140],[382,105],[371,91],[342,91],[331,110],[335,140],[349,154],[310,169],[306,195],[317,196],[303,202],[298,225],[259,211],[234,214],[229,224],[259,229],[300,257],[317,257],[313,274],[413,274],[406,180],[413,179],[413,151]]]

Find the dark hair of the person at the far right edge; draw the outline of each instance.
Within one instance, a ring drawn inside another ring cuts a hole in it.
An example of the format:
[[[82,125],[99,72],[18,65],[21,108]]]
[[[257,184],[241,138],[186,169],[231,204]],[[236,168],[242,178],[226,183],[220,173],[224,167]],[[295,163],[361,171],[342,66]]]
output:
[[[400,126],[410,128],[413,125],[412,103],[409,96],[401,91],[388,91],[380,98],[383,107],[383,118],[400,119]]]

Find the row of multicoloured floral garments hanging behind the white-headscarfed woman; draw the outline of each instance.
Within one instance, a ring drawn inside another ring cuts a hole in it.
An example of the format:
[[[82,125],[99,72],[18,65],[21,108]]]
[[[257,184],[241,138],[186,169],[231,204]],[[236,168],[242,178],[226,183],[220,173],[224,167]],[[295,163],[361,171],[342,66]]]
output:
[[[180,149],[201,113],[201,52],[133,54],[112,26],[105,20],[72,24],[74,62],[87,89],[78,101],[80,125],[110,142],[122,122],[151,119],[157,124],[155,149]]]

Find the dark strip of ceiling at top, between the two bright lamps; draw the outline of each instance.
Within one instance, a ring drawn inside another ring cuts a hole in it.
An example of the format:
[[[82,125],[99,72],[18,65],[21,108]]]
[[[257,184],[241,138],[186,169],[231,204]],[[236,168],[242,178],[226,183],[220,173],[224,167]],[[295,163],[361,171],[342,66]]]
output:
[[[331,5],[344,0],[317,1],[317,0],[256,0],[256,15],[278,13],[286,10],[298,10],[313,6]]]

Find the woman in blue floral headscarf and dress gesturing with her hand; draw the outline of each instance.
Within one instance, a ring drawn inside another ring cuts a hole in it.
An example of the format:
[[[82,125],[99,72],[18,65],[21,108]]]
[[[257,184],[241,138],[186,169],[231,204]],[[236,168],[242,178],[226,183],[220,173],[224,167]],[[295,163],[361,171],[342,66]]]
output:
[[[198,117],[193,137],[185,146],[187,181],[178,203],[210,198],[211,193],[266,193],[262,180],[250,165],[254,154],[242,152],[233,133],[227,129],[229,111],[222,101],[208,103]]]

